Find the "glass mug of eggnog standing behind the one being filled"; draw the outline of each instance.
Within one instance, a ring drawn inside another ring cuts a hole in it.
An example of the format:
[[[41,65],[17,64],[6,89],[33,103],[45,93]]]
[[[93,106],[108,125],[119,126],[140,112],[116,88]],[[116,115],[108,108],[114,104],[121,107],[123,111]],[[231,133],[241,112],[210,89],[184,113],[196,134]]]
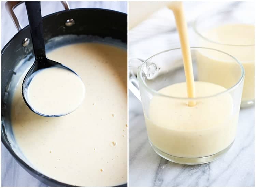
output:
[[[199,16],[193,25],[196,46],[218,49],[236,57],[245,70],[241,107],[254,105],[254,10],[230,9]],[[230,74],[233,63],[226,56],[198,54],[198,76],[225,88],[234,82]],[[206,65],[207,64],[207,65]]]

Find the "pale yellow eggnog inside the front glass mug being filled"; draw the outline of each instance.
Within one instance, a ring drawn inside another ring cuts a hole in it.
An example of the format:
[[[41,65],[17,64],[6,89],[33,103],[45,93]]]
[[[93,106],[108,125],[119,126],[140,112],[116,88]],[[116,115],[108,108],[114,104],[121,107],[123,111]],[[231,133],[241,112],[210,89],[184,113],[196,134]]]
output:
[[[196,97],[212,96],[226,88],[208,82],[195,82]],[[186,83],[177,83],[158,91],[186,98]],[[176,157],[196,158],[227,148],[236,135],[237,115],[233,115],[230,93],[197,99],[188,106],[186,100],[154,96],[145,115],[148,138],[159,150]]]

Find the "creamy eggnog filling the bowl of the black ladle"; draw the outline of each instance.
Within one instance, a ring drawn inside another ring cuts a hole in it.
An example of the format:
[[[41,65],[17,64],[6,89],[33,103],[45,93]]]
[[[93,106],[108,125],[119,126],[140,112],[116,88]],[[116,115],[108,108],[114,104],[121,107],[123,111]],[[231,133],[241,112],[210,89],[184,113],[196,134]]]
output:
[[[39,70],[28,86],[28,102],[44,115],[62,115],[73,112],[85,96],[85,87],[73,72],[51,67]]]

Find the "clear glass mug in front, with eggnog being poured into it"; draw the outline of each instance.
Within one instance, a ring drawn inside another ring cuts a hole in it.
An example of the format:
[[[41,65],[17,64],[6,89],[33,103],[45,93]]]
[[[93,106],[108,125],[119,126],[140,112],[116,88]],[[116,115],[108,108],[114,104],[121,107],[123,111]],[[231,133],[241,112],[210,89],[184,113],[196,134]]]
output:
[[[169,85],[185,82],[180,48],[160,52],[145,61],[131,59],[129,89],[142,102],[148,140],[155,152],[172,162],[202,164],[226,153],[234,142],[244,69],[236,58],[219,50],[191,47],[191,55],[195,81],[201,81],[198,65],[207,66],[203,62],[227,58],[230,69],[226,72],[229,82],[223,84],[226,90],[194,99],[159,92]],[[221,83],[219,85],[222,86]],[[188,107],[189,100],[207,105]],[[179,107],[180,104],[183,106]],[[197,113],[193,113],[194,110]],[[190,118],[189,121],[185,121],[187,118]]]

